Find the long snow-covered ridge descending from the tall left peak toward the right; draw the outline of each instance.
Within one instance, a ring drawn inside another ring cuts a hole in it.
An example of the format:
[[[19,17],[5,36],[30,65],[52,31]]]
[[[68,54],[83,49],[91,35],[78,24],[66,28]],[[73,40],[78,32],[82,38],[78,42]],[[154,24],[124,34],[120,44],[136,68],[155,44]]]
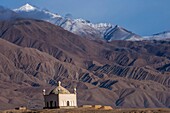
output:
[[[26,4],[18,9],[14,9],[14,11],[20,14],[22,17],[48,21],[52,24],[61,26],[65,30],[68,30],[74,34],[92,40],[141,40],[140,36],[128,32],[123,28],[117,29],[116,26],[111,24],[93,24],[90,21],[84,19],[64,18],[58,14],[51,13],[47,10],[41,10],[29,4]]]

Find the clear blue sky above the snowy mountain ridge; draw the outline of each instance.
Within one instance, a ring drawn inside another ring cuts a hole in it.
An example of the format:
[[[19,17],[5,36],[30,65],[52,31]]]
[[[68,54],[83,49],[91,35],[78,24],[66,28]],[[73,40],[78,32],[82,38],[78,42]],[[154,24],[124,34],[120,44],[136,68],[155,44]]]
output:
[[[170,30],[170,0],[0,0],[10,9],[26,3],[62,16],[118,24],[139,35]]]

